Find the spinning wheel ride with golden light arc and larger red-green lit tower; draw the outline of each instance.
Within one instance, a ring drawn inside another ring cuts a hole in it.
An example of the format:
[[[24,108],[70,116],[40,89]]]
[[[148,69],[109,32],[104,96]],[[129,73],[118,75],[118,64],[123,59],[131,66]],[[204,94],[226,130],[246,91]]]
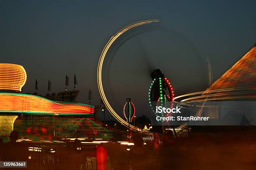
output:
[[[102,53],[100,55],[100,59],[99,59],[99,62],[98,62],[98,68],[97,68],[98,89],[99,89],[102,101],[104,102],[108,111],[113,115],[113,117],[115,117],[116,120],[118,120],[120,123],[122,123],[126,127],[130,127],[131,130],[145,132],[145,133],[148,133],[148,131],[130,125],[130,122],[129,122],[128,119],[124,120],[123,118],[120,117],[118,112],[116,112],[113,109],[112,105],[110,104],[110,101],[106,97],[105,90],[103,89],[103,85],[102,85],[102,66],[103,66],[104,59],[105,59],[105,57],[108,53],[108,50],[113,45],[113,43],[118,39],[118,37],[120,37],[123,33],[127,32],[128,30],[131,30],[132,28],[138,27],[140,25],[148,25],[148,24],[157,23],[157,22],[159,22],[159,20],[139,21],[137,23],[133,23],[131,25],[128,25],[125,28],[118,31],[115,35],[113,35],[110,38],[110,40],[108,41],[108,43],[105,45],[104,49],[102,50]],[[168,32],[168,30],[167,30],[167,32]],[[187,39],[185,38],[185,40],[187,40]],[[203,62],[201,61],[201,56],[200,56],[199,52],[197,51],[197,49],[195,49],[195,45],[189,44],[189,47],[190,46],[192,47],[193,52],[195,52],[196,57],[200,61],[199,62],[200,66],[202,66],[202,68],[204,69],[205,67],[203,65]],[[205,72],[203,72],[203,73],[205,73]],[[150,88],[148,90],[148,103],[149,103],[151,109],[154,110],[155,109],[154,106],[159,105],[159,103],[160,104],[163,104],[163,103],[165,104],[165,102],[170,104],[168,106],[169,108],[173,107],[175,94],[174,94],[174,88],[172,86],[172,83],[168,80],[167,77],[164,77],[164,75],[161,73],[161,71],[159,69],[154,70],[154,72],[151,74],[151,77],[152,77],[152,82],[151,82]],[[201,80],[201,79],[198,79],[198,80]],[[202,79],[202,80],[204,80],[204,79]],[[167,114],[172,114],[172,113],[167,113]],[[126,115],[128,115],[128,114],[126,114]],[[124,117],[126,115],[124,115]],[[128,117],[126,116],[126,118],[128,118]]]

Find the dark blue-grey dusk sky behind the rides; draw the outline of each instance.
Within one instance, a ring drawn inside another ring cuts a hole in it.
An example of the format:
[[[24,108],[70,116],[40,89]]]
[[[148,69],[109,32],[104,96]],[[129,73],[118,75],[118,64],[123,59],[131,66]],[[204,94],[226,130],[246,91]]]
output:
[[[0,62],[25,67],[24,92],[33,92],[36,78],[39,93],[47,92],[48,80],[53,92],[64,90],[65,75],[72,84],[75,73],[78,101],[87,103],[91,89],[97,105],[97,62],[108,39],[131,23],[160,19],[123,35],[104,65],[103,85],[114,108],[121,112],[131,97],[141,115],[151,69],[160,68],[180,95],[205,89],[206,57],[214,80],[239,60],[256,42],[255,6],[255,0],[2,0]]]

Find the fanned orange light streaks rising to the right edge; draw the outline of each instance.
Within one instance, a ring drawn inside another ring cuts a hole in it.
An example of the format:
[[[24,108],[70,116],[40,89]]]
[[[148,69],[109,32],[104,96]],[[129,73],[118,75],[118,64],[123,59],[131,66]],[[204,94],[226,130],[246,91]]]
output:
[[[224,100],[234,98],[256,98],[256,46],[244,55],[241,60],[236,62],[233,67],[226,71],[218,80],[216,80],[207,90],[203,92],[194,92],[175,97],[175,100],[181,97],[189,97],[181,100],[182,104],[199,102],[205,100]],[[246,94],[246,95],[245,95]],[[224,96],[225,97],[222,97]],[[185,102],[189,101],[189,102]]]

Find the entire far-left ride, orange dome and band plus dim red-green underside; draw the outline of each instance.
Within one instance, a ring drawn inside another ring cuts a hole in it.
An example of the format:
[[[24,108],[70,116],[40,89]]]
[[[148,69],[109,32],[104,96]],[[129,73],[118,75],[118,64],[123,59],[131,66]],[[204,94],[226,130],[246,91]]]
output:
[[[66,136],[74,133],[78,128],[92,127],[93,129],[89,118],[94,117],[94,106],[52,101],[36,95],[19,93],[26,83],[26,77],[26,70],[21,65],[0,63],[1,138],[8,139],[8,135],[13,129],[17,130],[21,136],[41,137],[45,137],[46,134],[55,134],[54,129],[58,129],[58,132],[61,132],[62,135],[66,134]],[[18,115],[21,115],[21,122],[16,120]],[[32,115],[35,116],[32,117]],[[82,118],[72,117],[75,115],[80,115]],[[94,128],[97,129],[97,127]],[[100,127],[105,129],[102,125]]]

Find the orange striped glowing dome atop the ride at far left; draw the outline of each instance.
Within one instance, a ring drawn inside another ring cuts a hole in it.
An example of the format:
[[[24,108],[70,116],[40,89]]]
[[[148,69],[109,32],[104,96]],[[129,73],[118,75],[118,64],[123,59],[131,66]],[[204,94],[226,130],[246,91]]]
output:
[[[26,80],[27,73],[21,65],[0,63],[0,90],[21,91]]]

